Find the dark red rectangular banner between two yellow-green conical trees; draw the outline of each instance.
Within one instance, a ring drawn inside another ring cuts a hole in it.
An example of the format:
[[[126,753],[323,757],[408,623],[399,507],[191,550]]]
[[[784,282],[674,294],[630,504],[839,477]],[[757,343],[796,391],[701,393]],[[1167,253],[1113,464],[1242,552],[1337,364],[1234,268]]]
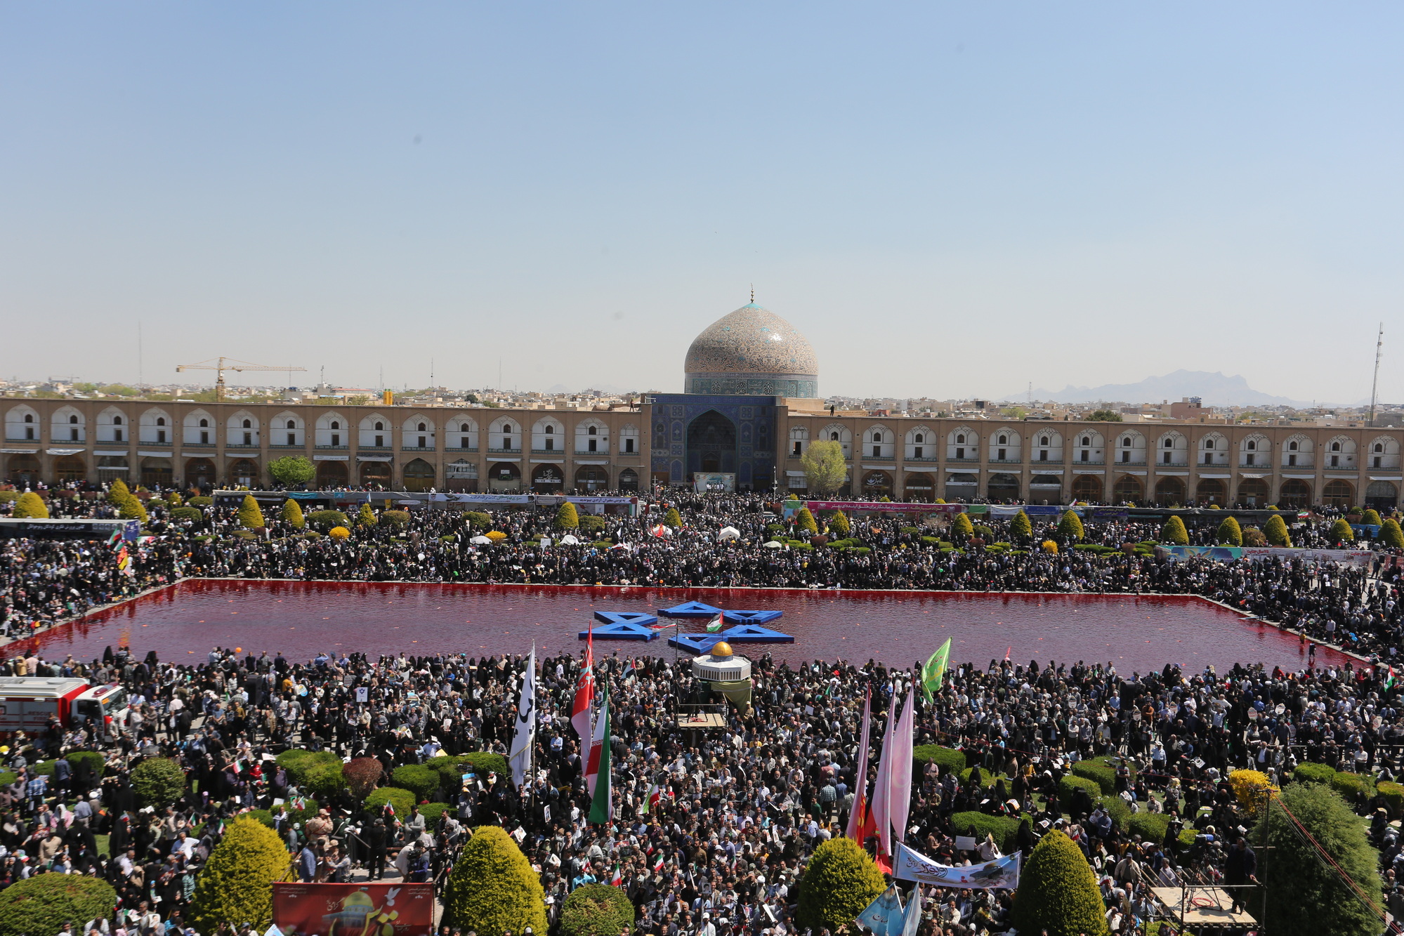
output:
[[[432,884],[274,884],[285,936],[431,936]]]

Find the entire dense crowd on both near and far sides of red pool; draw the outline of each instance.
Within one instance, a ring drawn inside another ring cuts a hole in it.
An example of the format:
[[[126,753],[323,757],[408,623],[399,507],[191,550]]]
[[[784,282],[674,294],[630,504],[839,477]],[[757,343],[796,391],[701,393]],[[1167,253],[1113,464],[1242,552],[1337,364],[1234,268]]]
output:
[[[51,504],[53,515],[112,511],[101,498]],[[750,495],[673,497],[677,523],[664,522],[663,505],[601,516],[578,544],[559,542],[553,511],[494,512],[486,525],[482,515],[448,511],[361,526],[352,516],[351,535],[337,539],[307,537],[274,516],[257,535],[240,535],[233,509],[205,507],[192,518],[159,498],[146,505],[147,535],[136,544],[4,540],[4,634],[28,636],[184,577],[1199,594],[1383,661],[1396,658],[1404,627],[1400,570],[1387,550],[1362,566],[1177,561],[1144,550],[1075,550],[1042,518],[1022,537],[1011,521],[993,518],[960,537],[948,526],[882,516],[854,516],[849,547],[835,550],[804,547],[792,519]],[[1330,519],[1297,521],[1293,539],[1325,544]],[[736,537],[719,539],[727,526]],[[487,529],[504,539],[475,543]],[[1192,542],[1212,542],[1213,528],[1189,532]],[[1088,522],[1082,542],[1119,547],[1157,533]],[[1024,549],[986,549],[1000,540]],[[1043,549],[1045,540],[1060,549]],[[389,783],[396,766],[438,754],[505,754],[524,660],[323,654],[295,662],[216,648],[190,665],[118,648],[94,661],[45,661],[31,651],[7,665],[14,675],[119,683],[131,699],[125,723],[51,723],[3,752],[14,776],[0,789],[0,887],[37,873],[105,877],[121,894],[119,912],[74,925],[112,936],[190,930],[188,904],[222,822],[250,810],[267,811],[258,815],[284,838],[303,880],[389,873],[442,884],[470,829],[496,824],[519,831],[552,923],[574,887],[619,880],[640,936],[785,936],[803,929],[795,887],[807,856],[842,835],[854,804],[863,699],[872,699],[879,738],[890,693],[911,695],[910,674],[872,661],[790,668],[762,657],[750,706],[727,709],[723,728],[694,733],[675,720],[675,704],[696,690],[685,664],[605,658],[597,675],[615,711],[615,822],[600,827],[587,821],[581,745],[569,720],[576,657],[538,664],[536,759],[525,786],[505,773],[445,784],[428,797],[445,805],[409,814],[366,808],[345,789],[314,801],[275,756],[305,748],[375,758]],[[1118,674],[1081,661],[955,665],[932,702],[915,693],[914,734],[918,744],[963,752],[976,769],[931,761],[914,777],[906,841],[959,864],[1026,852],[1063,829],[1099,877],[1112,932],[1143,933],[1161,912],[1150,887],[1251,877],[1252,849],[1237,841],[1251,820],[1227,780],[1231,769],[1273,782],[1302,762],[1384,780],[1404,773],[1404,711],[1382,672],[1363,660],[1344,671],[1234,667],[1223,675],[1172,667]],[[102,762],[79,754],[88,751]],[[192,783],[168,808],[143,813],[131,770],[156,755],[176,758]],[[1091,758],[1115,765],[1115,801],[1063,783]],[[1383,804],[1360,797],[1353,805],[1379,815]],[[960,850],[956,836],[969,832],[962,817],[970,813],[1015,818],[1018,834]],[[1164,835],[1144,835],[1144,824],[1129,821],[1136,814],[1168,817]],[[1186,829],[1195,831],[1188,841]],[[1404,912],[1396,883],[1404,845],[1377,821],[1372,834],[1390,909]],[[1007,891],[931,888],[927,898],[929,936],[1012,926]],[[232,933],[239,922],[222,929]]]

